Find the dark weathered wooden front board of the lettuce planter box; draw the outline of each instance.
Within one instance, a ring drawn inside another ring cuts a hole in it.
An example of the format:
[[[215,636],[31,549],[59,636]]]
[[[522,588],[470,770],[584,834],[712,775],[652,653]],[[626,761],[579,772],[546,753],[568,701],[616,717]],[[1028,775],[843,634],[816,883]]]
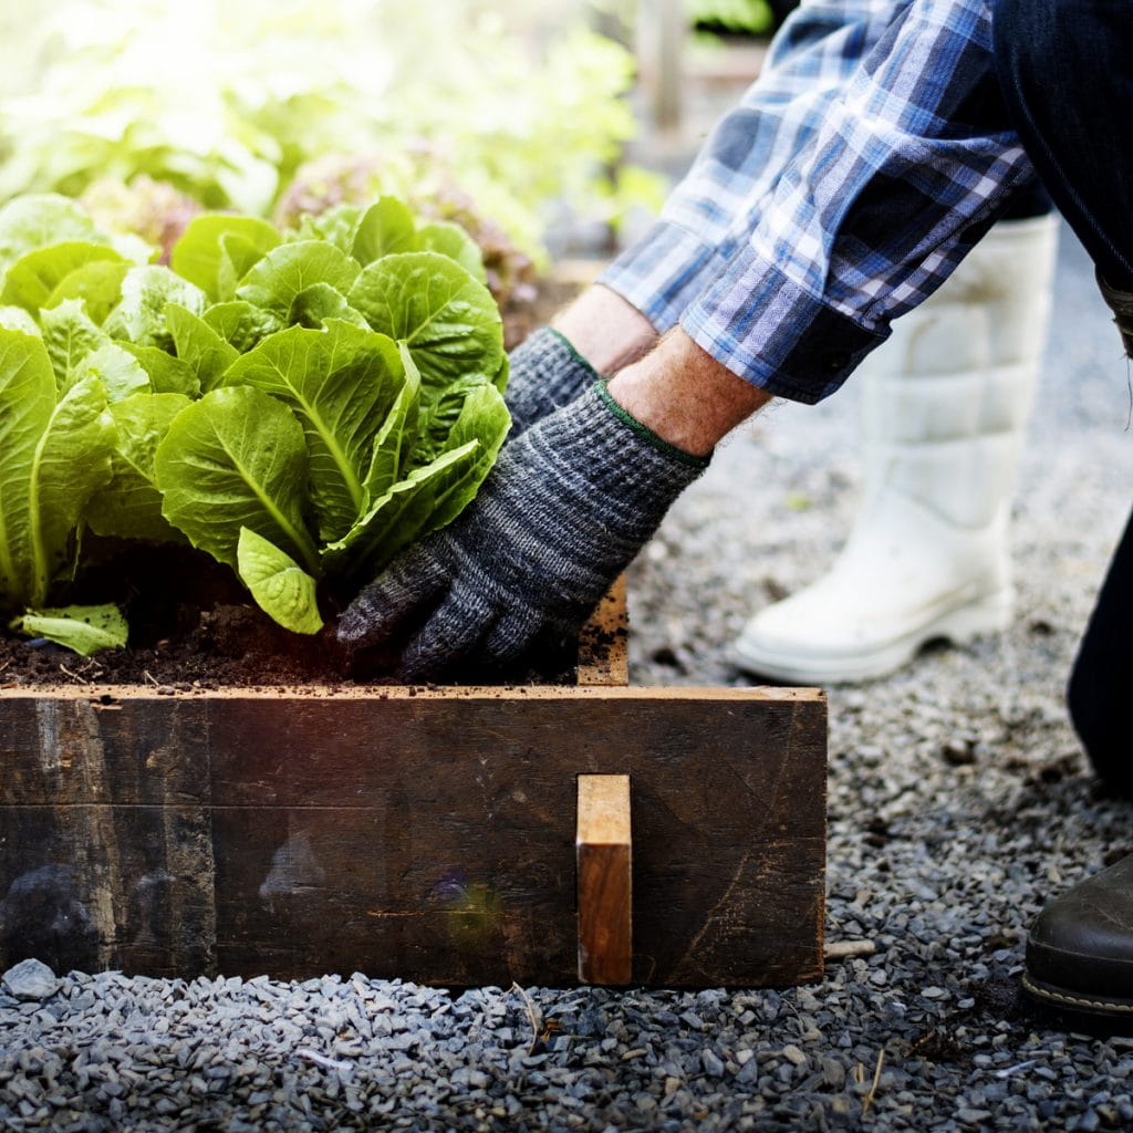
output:
[[[823,695],[629,688],[616,651],[576,685],[0,689],[0,971],[577,982],[580,774],[630,780],[614,982],[820,977]]]

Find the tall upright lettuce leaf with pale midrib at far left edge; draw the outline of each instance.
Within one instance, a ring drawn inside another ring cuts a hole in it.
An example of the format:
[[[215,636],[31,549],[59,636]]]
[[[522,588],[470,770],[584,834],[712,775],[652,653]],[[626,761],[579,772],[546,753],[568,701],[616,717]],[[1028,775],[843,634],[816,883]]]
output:
[[[0,599],[46,604],[83,509],[110,478],[113,427],[101,382],[62,397],[42,340],[0,331]]]

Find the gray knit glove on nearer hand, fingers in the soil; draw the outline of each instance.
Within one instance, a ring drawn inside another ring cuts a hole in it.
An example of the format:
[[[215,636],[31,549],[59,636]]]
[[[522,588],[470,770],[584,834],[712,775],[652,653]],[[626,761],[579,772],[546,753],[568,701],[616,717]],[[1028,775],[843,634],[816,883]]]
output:
[[[404,681],[514,673],[533,647],[578,634],[707,465],[595,383],[504,448],[476,500],[355,598],[339,640],[357,653],[423,627]]]

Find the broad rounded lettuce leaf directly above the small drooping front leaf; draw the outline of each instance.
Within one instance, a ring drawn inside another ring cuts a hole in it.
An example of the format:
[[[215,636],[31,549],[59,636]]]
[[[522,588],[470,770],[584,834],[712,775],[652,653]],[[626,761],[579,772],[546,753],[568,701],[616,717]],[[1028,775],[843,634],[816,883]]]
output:
[[[181,410],[157,445],[162,514],[189,542],[236,568],[240,528],[318,569],[307,531],[307,446],[281,401],[250,385],[222,386]]]

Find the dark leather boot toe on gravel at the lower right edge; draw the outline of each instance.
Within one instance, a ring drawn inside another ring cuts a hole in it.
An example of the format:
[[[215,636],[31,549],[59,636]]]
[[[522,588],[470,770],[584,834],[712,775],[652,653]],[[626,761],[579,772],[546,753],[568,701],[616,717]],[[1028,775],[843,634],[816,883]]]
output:
[[[1133,1034],[1133,854],[1039,913],[1026,940],[1023,989],[1067,1016]]]

